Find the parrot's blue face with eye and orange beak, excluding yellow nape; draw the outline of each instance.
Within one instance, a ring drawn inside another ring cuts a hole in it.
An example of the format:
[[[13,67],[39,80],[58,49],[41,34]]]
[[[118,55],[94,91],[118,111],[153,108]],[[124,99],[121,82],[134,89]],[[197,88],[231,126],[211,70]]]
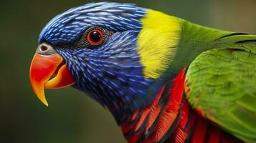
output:
[[[143,104],[136,100],[146,96],[151,84],[138,54],[140,19],[146,11],[133,4],[103,2],[54,17],[39,36],[30,68],[37,97],[47,105],[44,88],[72,85],[109,108]]]

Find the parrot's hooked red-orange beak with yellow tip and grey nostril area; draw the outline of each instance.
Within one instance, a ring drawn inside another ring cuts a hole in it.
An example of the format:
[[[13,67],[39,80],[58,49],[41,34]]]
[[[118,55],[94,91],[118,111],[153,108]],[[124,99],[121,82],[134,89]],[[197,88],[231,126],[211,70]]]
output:
[[[62,56],[48,44],[39,45],[30,65],[29,78],[34,93],[46,106],[44,88],[57,89],[75,84]]]

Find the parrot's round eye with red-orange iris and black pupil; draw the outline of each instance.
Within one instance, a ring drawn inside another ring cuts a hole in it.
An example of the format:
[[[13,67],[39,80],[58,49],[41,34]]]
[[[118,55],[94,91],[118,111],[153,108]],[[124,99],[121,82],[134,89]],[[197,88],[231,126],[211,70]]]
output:
[[[103,43],[103,31],[100,29],[91,29],[87,32],[86,39],[89,44],[97,46]]]

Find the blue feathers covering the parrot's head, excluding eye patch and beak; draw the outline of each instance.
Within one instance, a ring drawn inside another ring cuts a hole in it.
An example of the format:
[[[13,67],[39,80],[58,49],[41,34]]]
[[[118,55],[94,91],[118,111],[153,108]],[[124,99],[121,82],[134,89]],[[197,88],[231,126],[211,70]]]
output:
[[[115,117],[146,107],[153,101],[148,93],[152,80],[143,77],[137,40],[147,10],[133,4],[92,3],[60,14],[44,27],[39,43],[52,44],[67,62],[77,84],[103,106],[114,108]],[[70,47],[83,32],[101,26],[113,34],[96,48]],[[61,45],[61,46],[60,46]],[[66,46],[67,45],[67,46]]]

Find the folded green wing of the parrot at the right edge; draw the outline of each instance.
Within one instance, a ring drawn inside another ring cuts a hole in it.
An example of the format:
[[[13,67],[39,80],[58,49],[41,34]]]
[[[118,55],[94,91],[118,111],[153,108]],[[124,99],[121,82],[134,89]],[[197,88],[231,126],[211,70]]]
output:
[[[186,97],[244,142],[256,142],[256,36],[227,36],[189,65]]]

